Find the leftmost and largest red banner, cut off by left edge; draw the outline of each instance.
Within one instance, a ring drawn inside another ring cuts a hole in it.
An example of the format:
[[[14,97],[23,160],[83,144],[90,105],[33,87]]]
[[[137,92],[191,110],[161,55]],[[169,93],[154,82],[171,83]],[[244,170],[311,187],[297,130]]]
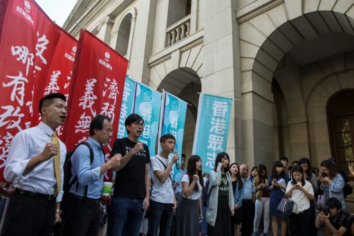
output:
[[[60,32],[35,1],[2,0],[0,10],[0,181],[5,181],[8,147],[37,113],[34,99],[43,94]]]

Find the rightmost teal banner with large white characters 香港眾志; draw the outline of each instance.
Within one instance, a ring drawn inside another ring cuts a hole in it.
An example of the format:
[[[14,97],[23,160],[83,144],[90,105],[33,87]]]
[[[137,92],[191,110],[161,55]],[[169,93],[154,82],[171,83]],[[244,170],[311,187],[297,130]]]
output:
[[[216,155],[226,152],[232,99],[201,94],[192,153],[201,156],[203,172],[214,170]]]

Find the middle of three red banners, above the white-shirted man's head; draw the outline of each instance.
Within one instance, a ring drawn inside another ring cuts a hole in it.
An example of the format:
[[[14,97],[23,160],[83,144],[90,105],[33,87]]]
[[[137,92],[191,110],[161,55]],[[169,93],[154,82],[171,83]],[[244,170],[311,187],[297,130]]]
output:
[[[63,93],[68,101],[69,89],[71,84],[71,76],[73,74],[73,66],[77,50],[77,40],[62,30],[59,42],[55,48],[53,60],[50,63],[48,75],[42,93],[37,99],[40,99],[49,93]],[[35,112],[32,116],[31,125],[35,126],[41,119],[39,112]],[[57,128],[57,136],[61,138],[63,127]]]

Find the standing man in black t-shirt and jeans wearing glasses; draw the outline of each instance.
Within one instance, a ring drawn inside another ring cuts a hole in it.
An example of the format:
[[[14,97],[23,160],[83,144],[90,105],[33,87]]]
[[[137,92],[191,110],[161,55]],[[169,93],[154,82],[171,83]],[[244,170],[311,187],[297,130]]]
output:
[[[145,127],[144,120],[131,114],[125,120],[127,138],[118,138],[112,148],[111,156],[122,156],[120,166],[116,167],[115,187],[108,212],[107,235],[122,235],[124,224],[127,232],[123,235],[138,236],[142,215],[149,208],[149,163],[147,145],[138,142]],[[125,230],[124,230],[125,231]]]

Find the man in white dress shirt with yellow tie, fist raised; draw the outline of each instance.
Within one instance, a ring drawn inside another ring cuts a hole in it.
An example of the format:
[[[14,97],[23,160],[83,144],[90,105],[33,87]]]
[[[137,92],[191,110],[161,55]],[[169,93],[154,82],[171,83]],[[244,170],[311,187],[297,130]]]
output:
[[[62,93],[48,94],[39,102],[39,125],[12,139],[3,176],[16,190],[1,235],[52,235],[53,223],[61,221],[66,147],[53,134],[67,109]]]

